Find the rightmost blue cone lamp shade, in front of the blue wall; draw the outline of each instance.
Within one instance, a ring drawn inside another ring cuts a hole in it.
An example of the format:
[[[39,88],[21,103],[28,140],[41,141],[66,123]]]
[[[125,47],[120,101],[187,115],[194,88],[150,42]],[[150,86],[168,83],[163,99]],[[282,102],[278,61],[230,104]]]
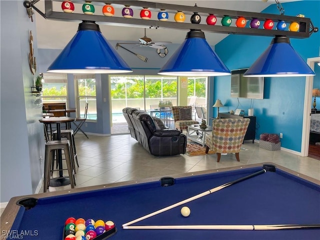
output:
[[[243,76],[309,76],[314,71],[293,49],[289,38],[276,36]]]

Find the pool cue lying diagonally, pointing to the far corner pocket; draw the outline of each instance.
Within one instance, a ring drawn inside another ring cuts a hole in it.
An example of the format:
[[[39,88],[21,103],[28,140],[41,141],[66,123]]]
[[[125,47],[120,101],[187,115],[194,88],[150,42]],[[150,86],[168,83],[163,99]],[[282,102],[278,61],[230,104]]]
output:
[[[174,203],[174,204],[172,204],[172,205],[170,205],[170,206],[164,207],[164,208],[159,209],[159,210],[157,210],[157,211],[151,212],[151,213],[149,213],[149,214],[147,214],[147,215],[144,215],[144,216],[141,216],[141,217],[139,217],[139,218],[136,218],[135,220],[129,221],[129,222],[127,222],[127,223],[124,223],[124,224],[122,224],[122,227],[128,226],[128,225],[130,225],[130,224],[132,224],[132,223],[141,221],[141,220],[143,220],[143,219],[145,219],[145,218],[148,218],[148,217],[150,217],[150,216],[154,216],[154,215],[159,214],[159,213],[161,213],[161,212],[163,212],[163,211],[169,210],[169,209],[171,209],[171,208],[173,208],[173,207],[182,205],[182,204],[187,203],[187,202],[189,202],[189,201],[193,201],[193,200],[195,200],[195,199],[197,199],[197,198],[200,198],[200,197],[202,197],[202,196],[205,196],[205,195],[208,195],[208,194],[213,193],[213,192],[215,192],[215,191],[221,190],[221,189],[224,188],[224,187],[230,186],[230,185],[232,185],[232,184],[235,184],[235,183],[237,183],[237,182],[243,181],[243,180],[245,180],[245,179],[251,178],[251,177],[253,177],[253,176],[256,176],[256,175],[259,175],[259,174],[262,174],[262,173],[265,173],[265,172],[266,172],[266,170],[263,168],[262,170],[259,170],[259,171],[257,171],[257,172],[254,172],[254,173],[252,173],[252,174],[250,174],[250,175],[247,175],[247,176],[241,177],[241,178],[239,178],[239,179],[236,179],[236,180],[233,180],[233,181],[224,183],[224,184],[222,184],[222,185],[220,185],[220,186],[217,186],[217,187],[214,187],[214,188],[212,188],[212,189],[206,190],[206,191],[204,191],[204,192],[202,192],[202,193],[199,193],[199,194],[197,194],[197,195],[195,195],[195,196],[191,196],[191,197],[189,197],[189,198],[187,198],[187,199],[184,199],[184,200],[182,200],[182,201],[179,201],[179,202],[177,202],[177,203]]]

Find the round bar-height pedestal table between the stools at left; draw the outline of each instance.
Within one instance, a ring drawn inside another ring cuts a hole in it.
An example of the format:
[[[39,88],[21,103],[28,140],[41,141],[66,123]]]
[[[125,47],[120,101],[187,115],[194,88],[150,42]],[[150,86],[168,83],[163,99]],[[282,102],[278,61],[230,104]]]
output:
[[[49,117],[49,118],[41,118],[41,119],[39,119],[39,122],[42,122],[44,124],[55,123],[56,124],[57,140],[61,140],[60,123],[71,122],[74,120],[75,120],[75,118],[73,118],[73,117]],[[57,160],[58,160],[58,167],[59,167],[59,176],[51,178],[49,185],[50,186],[64,186],[64,185],[70,184],[69,177],[63,176],[61,149],[58,150]]]

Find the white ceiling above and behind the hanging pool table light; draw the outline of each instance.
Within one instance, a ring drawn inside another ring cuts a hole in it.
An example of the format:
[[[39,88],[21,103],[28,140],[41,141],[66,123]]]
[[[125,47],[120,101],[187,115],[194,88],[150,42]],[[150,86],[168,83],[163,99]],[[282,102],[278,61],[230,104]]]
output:
[[[179,5],[190,5],[193,6],[194,3],[199,7],[209,7],[209,8],[220,8],[229,10],[239,10],[239,11],[251,11],[260,12],[270,4],[274,4],[273,0],[147,0],[151,2],[162,2],[170,4]],[[292,0],[281,0],[292,1]],[[61,11],[61,2],[53,2],[53,11]],[[35,4],[37,8],[44,12],[44,1],[41,0]],[[276,5],[274,5],[276,7]],[[95,7],[95,14],[101,14],[101,7]],[[75,4],[75,12],[82,13],[81,4]],[[120,8],[115,9],[115,16],[120,16]],[[34,11],[35,12],[35,11]],[[118,13],[117,13],[118,12]],[[72,14],[72,13],[70,13]],[[133,17],[139,17],[139,13],[134,12]],[[186,16],[186,20],[189,20],[190,16]],[[204,18],[204,19],[203,19]],[[156,12],[152,12],[152,18],[156,18]],[[173,20],[173,15],[169,14],[169,20]],[[146,20],[147,21],[147,20]],[[205,22],[205,17],[202,16],[201,23]],[[219,22],[219,19],[218,19]],[[47,20],[35,12],[35,23],[36,23],[36,36],[38,48],[52,48],[52,49],[62,49],[68,41],[75,34],[78,22],[69,21],[56,21]],[[97,22],[98,23],[98,22]],[[141,27],[123,27],[123,26],[110,26],[100,24],[100,29],[104,37],[108,40],[116,41],[131,41],[137,42],[138,38],[143,37],[144,29]],[[234,24],[234,22],[232,22]],[[146,35],[152,38],[152,41],[171,41],[172,43],[181,43],[185,38],[185,30],[176,29],[146,29]],[[222,33],[205,33],[206,40],[210,45],[215,45],[221,39],[223,39],[227,34]]]

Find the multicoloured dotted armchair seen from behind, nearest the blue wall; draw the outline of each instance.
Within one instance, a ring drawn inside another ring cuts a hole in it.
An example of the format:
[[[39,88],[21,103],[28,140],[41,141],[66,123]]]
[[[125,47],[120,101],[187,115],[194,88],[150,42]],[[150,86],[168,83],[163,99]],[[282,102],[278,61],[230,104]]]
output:
[[[235,153],[236,160],[240,161],[239,151],[249,122],[250,118],[213,119],[212,134],[205,136],[205,153],[212,149],[217,155],[217,162],[221,153]]]

